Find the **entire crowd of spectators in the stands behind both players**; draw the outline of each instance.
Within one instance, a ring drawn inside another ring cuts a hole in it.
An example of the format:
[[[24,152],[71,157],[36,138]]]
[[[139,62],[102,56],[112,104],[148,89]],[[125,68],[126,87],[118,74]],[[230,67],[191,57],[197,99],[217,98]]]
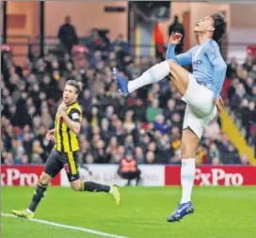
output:
[[[120,97],[112,82],[111,69],[120,68],[129,79],[145,71],[157,59],[142,58],[137,68],[123,37],[110,42],[93,29],[85,53],[48,52],[30,54],[17,66],[11,54],[1,55],[1,160],[5,165],[41,164],[53,143],[45,139],[54,127],[57,105],[65,82],[83,82],[79,97],[83,107],[80,139],[81,163],[120,163],[126,153],[133,153],[138,164],[179,164],[184,103],[168,78],[143,87],[131,97]],[[256,64],[248,57],[240,66],[229,64],[227,77],[230,105],[239,113],[252,139],[255,122]],[[255,142],[254,142],[255,143]],[[248,164],[246,154],[221,134],[220,120],[205,130],[197,154],[198,164]]]

